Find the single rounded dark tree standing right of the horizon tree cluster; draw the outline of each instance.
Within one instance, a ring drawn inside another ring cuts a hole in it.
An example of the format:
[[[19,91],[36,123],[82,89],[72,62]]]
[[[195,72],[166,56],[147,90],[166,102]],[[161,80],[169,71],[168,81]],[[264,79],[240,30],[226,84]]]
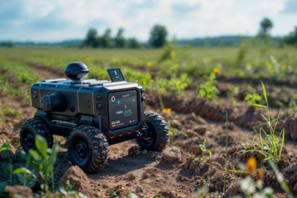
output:
[[[149,43],[153,48],[161,48],[166,43],[168,32],[165,26],[154,25],[150,31]]]

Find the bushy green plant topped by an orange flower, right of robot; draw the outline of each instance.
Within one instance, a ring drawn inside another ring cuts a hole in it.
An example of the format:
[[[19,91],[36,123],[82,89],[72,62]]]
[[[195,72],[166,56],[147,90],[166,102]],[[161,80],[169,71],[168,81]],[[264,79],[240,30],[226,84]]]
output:
[[[207,99],[210,101],[213,101],[215,99],[217,99],[218,94],[220,93],[220,91],[218,90],[218,88],[216,88],[215,84],[217,83],[217,81],[215,80],[215,73],[211,73],[209,75],[208,80],[206,81],[206,83],[201,84],[199,87],[199,95],[201,96],[202,99]]]

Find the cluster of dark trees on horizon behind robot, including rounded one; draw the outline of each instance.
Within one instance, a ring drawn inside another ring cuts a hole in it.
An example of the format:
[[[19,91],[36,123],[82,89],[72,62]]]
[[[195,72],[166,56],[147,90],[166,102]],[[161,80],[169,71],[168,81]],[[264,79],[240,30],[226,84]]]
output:
[[[161,48],[166,44],[168,32],[162,25],[154,25],[150,31],[150,37],[147,46],[151,48]],[[126,39],[124,29],[119,28],[115,37],[111,37],[111,29],[106,29],[102,35],[99,35],[95,28],[88,30],[86,38],[79,45],[79,48],[104,48],[104,49],[138,49],[144,45],[135,37]]]

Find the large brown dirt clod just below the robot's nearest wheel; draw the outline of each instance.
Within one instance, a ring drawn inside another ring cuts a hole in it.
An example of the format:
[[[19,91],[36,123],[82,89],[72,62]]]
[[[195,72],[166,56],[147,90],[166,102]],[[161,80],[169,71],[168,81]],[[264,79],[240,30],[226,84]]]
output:
[[[67,187],[67,181],[72,185],[72,190],[81,192],[92,197],[94,194],[90,181],[87,175],[78,166],[71,166],[62,176],[60,185]]]

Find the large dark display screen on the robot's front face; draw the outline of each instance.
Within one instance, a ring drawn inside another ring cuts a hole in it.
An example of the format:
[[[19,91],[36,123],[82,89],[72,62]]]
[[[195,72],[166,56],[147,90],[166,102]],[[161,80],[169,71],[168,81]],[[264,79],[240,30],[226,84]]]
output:
[[[137,91],[108,94],[109,129],[119,129],[138,123]]]

